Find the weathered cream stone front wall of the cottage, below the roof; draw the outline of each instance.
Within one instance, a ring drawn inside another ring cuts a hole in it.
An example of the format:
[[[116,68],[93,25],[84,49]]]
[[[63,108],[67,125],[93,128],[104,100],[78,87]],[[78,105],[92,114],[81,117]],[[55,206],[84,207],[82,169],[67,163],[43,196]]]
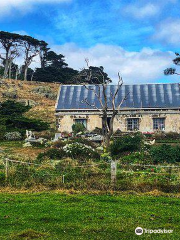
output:
[[[153,130],[153,118],[165,118],[165,131],[166,132],[178,132],[180,133],[180,113],[167,112],[167,113],[137,113],[137,114],[125,114],[116,116],[114,120],[114,131],[120,129],[123,132],[127,131],[127,118],[139,118],[139,130],[141,132],[154,132]],[[56,125],[59,132],[72,132],[72,125],[75,123],[75,119],[87,119],[87,130],[92,131],[96,127],[102,128],[101,116],[97,113],[94,114],[70,114],[63,113],[56,114]]]

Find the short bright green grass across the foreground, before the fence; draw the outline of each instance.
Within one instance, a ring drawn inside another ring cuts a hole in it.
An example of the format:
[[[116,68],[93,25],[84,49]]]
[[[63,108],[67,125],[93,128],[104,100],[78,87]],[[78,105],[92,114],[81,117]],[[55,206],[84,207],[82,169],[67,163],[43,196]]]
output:
[[[0,194],[0,239],[178,239],[180,199],[137,195]],[[136,227],[172,234],[136,236]]]

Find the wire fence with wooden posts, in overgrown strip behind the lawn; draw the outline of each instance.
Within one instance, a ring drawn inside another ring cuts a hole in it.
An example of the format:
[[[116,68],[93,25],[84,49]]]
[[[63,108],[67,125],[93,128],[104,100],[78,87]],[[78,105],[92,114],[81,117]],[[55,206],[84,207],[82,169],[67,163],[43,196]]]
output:
[[[144,189],[151,187],[180,191],[179,165],[124,164],[119,161],[68,165],[60,162],[59,168],[50,168],[43,163],[8,158],[3,163],[5,185],[15,187],[45,184],[54,188],[130,190],[143,186]]]

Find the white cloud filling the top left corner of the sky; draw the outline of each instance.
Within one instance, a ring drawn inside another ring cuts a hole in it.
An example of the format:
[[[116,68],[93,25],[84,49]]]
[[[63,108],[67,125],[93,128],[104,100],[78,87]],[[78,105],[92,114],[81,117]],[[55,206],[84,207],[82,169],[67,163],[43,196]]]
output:
[[[1,17],[13,12],[14,9],[22,13],[29,11],[35,4],[52,4],[70,2],[71,0],[0,0]]]

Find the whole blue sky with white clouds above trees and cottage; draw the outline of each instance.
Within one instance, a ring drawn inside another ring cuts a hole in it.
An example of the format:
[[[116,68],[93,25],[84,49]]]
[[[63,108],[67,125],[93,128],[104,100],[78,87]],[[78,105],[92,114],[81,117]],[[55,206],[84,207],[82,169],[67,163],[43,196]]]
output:
[[[0,30],[45,40],[70,67],[103,66],[114,83],[180,82],[164,76],[180,48],[178,0],[1,0]],[[38,65],[38,60],[34,65]]]

